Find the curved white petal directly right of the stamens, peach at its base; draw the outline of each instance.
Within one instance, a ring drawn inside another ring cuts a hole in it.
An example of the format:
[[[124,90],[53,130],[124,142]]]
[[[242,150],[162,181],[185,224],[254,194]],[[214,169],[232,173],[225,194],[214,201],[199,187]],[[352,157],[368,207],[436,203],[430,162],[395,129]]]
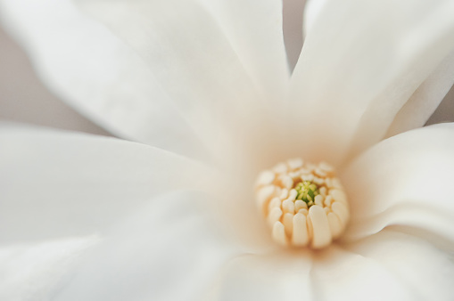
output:
[[[427,126],[378,143],[343,172],[351,203],[348,240],[387,225],[422,229],[454,246],[454,124]]]

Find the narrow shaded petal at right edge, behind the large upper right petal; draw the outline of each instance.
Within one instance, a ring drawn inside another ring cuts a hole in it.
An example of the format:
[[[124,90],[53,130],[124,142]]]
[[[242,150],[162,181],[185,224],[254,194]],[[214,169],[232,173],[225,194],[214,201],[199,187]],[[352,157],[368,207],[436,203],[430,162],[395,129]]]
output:
[[[442,61],[400,109],[387,136],[424,126],[454,83],[454,53]]]

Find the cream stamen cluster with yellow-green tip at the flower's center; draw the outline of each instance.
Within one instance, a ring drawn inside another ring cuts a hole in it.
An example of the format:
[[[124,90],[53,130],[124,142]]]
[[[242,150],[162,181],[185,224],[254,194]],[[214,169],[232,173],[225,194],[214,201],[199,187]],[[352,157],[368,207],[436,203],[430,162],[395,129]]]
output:
[[[260,173],[255,191],[273,240],[284,246],[325,248],[350,219],[343,186],[325,162],[279,163]]]

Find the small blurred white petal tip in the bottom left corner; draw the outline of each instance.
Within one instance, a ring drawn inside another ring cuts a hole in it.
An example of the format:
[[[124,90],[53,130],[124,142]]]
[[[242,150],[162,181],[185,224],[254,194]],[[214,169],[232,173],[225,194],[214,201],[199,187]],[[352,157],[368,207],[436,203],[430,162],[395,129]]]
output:
[[[0,299],[49,300],[64,276],[96,237],[0,247]]]

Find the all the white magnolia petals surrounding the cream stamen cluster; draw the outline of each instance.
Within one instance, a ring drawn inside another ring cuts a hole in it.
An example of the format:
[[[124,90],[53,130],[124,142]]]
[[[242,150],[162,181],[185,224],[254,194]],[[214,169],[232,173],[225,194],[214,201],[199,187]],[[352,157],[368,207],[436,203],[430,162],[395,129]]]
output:
[[[312,3],[292,74],[280,1],[0,3],[54,93],[135,141],[2,126],[2,299],[454,296],[454,125],[415,129],[454,79],[452,1]],[[296,157],[348,196],[323,245],[255,205]]]

